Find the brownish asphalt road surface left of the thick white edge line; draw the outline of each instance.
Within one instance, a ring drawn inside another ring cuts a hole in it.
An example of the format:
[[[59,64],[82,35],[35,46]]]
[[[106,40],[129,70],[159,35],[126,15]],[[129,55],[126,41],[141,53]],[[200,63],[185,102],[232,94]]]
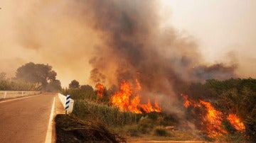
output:
[[[0,102],[0,142],[45,142],[55,94]]]

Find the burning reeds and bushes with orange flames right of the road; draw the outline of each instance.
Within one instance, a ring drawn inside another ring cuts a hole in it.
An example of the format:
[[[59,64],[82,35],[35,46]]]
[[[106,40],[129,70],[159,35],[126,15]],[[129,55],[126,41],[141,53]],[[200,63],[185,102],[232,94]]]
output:
[[[96,91],[86,86],[86,89],[67,89],[63,94],[74,95],[74,114],[78,118],[101,120],[110,127],[120,127],[124,135],[149,134],[171,139],[182,132],[179,137],[183,139],[188,132],[189,140],[246,142],[255,141],[256,101],[252,98],[256,95],[255,85],[255,79],[208,80],[205,84],[191,84],[184,90],[186,94],[178,96],[181,102],[177,101],[176,106],[181,110],[176,113],[169,113],[171,105],[164,108],[158,98],[144,96],[144,86],[139,79],[122,81],[118,88],[107,89],[97,84],[95,87],[101,88]],[[103,93],[100,91],[102,87]],[[100,103],[97,102],[99,95],[105,99]],[[155,101],[151,102],[152,99]],[[121,132],[119,130],[117,132]]]

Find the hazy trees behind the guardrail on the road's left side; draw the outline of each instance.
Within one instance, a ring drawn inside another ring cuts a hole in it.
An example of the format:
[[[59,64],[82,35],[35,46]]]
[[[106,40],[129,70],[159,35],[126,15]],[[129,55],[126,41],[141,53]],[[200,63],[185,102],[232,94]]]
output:
[[[48,64],[26,63],[16,70],[15,77],[6,79],[6,73],[0,73],[2,91],[60,91],[61,84],[57,73]]]

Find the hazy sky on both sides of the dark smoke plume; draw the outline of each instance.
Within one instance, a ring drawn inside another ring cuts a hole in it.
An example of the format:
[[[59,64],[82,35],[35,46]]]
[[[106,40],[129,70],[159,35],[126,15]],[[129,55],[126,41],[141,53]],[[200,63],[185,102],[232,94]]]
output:
[[[160,6],[161,24],[193,36],[206,62],[238,64],[239,76],[256,78],[256,1],[163,0]],[[63,86],[88,83],[90,47],[101,40],[70,16],[73,3],[3,0],[0,7],[0,72],[14,76],[26,62],[48,63]]]

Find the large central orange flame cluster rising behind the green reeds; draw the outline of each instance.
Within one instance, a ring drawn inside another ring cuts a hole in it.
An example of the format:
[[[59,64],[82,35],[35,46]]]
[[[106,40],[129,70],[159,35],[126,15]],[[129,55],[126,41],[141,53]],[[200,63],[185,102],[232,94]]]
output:
[[[135,91],[140,91],[142,86],[140,86],[139,81],[136,79],[137,88]],[[132,96],[132,86],[129,85],[128,82],[122,81],[120,86],[120,91],[114,93],[111,97],[110,101],[112,105],[119,107],[119,109],[124,111],[130,111],[132,113],[150,113],[150,112],[161,112],[161,108],[159,107],[157,101],[155,101],[155,105],[152,106],[150,100],[147,104],[141,104],[141,96],[137,94],[134,98]]]

